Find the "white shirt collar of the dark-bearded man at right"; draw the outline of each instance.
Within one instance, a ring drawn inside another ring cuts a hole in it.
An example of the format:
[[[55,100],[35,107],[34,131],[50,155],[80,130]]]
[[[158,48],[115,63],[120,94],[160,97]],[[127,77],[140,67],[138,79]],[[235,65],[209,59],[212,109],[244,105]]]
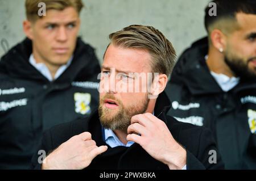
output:
[[[207,58],[208,55],[205,56],[205,60],[207,60]],[[224,92],[232,90],[236,85],[238,85],[240,81],[239,77],[228,77],[225,74],[217,74],[213,71],[210,71],[210,74],[212,74],[212,77],[215,79],[215,81]]]

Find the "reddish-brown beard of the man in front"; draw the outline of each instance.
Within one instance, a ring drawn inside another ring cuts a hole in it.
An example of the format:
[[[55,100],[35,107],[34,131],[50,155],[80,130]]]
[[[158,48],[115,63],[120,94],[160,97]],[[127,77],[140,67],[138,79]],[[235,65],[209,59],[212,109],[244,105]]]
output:
[[[105,99],[115,100],[118,103],[118,111],[104,107]],[[106,94],[100,99],[98,107],[102,127],[127,133],[127,128],[131,124],[131,117],[144,113],[147,110],[148,102],[149,100],[146,95],[140,102],[124,107],[121,100],[115,98],[113,94]]]

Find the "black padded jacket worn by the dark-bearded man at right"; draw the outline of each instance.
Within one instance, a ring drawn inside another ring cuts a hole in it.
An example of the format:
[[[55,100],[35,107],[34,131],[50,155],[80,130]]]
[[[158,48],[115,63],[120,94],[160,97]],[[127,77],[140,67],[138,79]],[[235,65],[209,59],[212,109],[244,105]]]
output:
[[[167,86],[168,115],[210,128],[227,169],[256,169],[256,79],[222,91],[205,62],[207,38],[185,50]]]

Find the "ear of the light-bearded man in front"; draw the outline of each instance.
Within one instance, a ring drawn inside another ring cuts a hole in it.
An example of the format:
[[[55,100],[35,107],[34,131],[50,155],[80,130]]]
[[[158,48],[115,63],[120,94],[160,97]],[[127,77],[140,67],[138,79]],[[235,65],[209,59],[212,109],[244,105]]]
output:
[[[151,86],[151,96],[158,97],[160,93],[164,91],[168,82],[166,74],[158,74],[154,77],[154,81]]]

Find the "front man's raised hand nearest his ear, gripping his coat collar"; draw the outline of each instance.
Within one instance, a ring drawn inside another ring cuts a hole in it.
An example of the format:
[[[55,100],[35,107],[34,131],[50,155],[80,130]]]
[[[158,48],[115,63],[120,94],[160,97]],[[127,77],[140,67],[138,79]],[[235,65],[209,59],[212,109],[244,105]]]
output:
[[[151,157],[170,169],[182,169],[186,165],[186,150],[174,140],[167,125],[151,113],[131,117],[127,132],[127,141],[137,142]]]

